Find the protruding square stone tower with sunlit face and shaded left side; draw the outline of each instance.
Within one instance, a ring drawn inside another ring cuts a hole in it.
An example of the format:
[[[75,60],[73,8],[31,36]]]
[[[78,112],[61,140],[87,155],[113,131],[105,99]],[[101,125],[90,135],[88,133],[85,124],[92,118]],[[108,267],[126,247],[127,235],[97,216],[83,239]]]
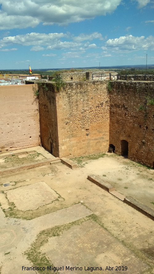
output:
[[[105,152],[109,136],[109,98],[106,81],[67,82],[55,92],[53,84],[40,89],[41,142],[54,156],[76,157]],[[52,140],[52,141],[51,141]]]

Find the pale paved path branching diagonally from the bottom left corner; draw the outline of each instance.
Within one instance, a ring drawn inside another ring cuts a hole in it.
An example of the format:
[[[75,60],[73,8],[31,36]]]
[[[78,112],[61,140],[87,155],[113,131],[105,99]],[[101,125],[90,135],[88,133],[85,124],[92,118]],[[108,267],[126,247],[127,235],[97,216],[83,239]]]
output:
[[[4,218],[0,209],[0,217],[6,220],[6,222],[0,223],[1,274],[23,274],[22,266],[32,266],[24,252],[30,247],[40,231],[70,223],[91,214],[92,212],[82,204],[76,204],[33,220],[21,220]],[[30,274],[32,273],[36,272],[30,271]]]

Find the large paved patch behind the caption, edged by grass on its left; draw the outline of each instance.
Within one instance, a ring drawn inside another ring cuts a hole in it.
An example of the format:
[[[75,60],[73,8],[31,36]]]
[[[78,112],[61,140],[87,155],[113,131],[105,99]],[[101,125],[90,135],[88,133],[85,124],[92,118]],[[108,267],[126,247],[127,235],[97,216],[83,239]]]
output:
[[[99,269],[94,269],[95,274],[123,272],[116,270],[116,266],[127,266],[126,273],[129,274],[140,274],[148,269],[148,265],[132,251],[91,220],[72,226],[60,236],[49,238],[41,252],[46,253],[55,267],[63,267],[64,270],[59,271],[61,274],[90,273],[86,272],[88,267],[98,267]],[[82,269],[74,272],[68,269],[75,266]],[[109,266],[113,267],[110,271],[106,269]]]

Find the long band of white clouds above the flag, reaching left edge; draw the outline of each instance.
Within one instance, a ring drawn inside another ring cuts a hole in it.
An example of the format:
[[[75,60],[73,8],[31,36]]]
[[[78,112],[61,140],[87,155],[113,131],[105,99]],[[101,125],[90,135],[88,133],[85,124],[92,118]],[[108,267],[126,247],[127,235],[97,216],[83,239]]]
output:
[[[82,41],[87,39],[95,39],[99,38],[102,40],[102,35],[98,32],[91,33],[89,35],[81,34],[78,37],[73,37],[71,34],[64,33],[36,33],[31,32],[24,35],[16,35],[16,36],[7,36],[0,40],[0,48],[7,47],[9,45],[22,45],[22,46],[32,46],[30,51],[43,51],[47,50],[63,50],[69,49],[72,50],[80,50],[84,51],[90,48],[96,48],[95,43],[91,43],[86,41],[82,43]],[[79,38],[79,39],[77,39]],[[62,41],[64,39],[70,41]],[[72,41],[73,40],[73,41]],[[75,40],[75,41],[74,41]]]

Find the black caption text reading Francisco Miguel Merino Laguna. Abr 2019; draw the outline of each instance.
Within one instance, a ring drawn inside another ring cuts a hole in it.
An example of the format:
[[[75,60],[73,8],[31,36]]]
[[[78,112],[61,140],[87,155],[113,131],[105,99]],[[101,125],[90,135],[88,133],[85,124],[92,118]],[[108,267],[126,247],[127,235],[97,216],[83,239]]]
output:
[[[76,271],[81,271],[81,270],[84,270],[84,271],[95,271],[95,270],[99,270],[99,271],[103,271],[103,270],[113,270],[113,268],[115,268],[114,270],[127,270],[127,266],[115,266],[115,267],[111,267],[111,266],[106,266],[104,267],[104,269],[102,269],[102,267],[77,267],[77,266],[74,266],[74,267],[70,267],[70,266],[61,266],[61,267],[55,267],[55,266],[47,266],[46,268],[45,267],[37,267],[37,266],[34,266],[34,267],[25,267],[25,266],[22,266],[22,270],[49,270],[49,271],[53,271],[53,272],[56,272],[56,271],[61,271],[61,270],[76,270]]]

